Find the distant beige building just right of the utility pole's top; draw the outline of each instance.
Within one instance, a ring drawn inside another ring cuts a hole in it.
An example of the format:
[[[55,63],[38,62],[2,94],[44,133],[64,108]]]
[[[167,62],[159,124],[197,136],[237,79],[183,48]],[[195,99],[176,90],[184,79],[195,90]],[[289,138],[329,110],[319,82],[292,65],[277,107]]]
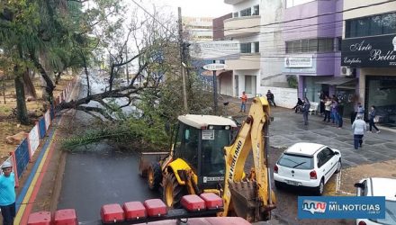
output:
[[[211,17],[182,17],[184,31],[188,32],[188,36],[193,41],[211,41],[212,34],[212,18]]]

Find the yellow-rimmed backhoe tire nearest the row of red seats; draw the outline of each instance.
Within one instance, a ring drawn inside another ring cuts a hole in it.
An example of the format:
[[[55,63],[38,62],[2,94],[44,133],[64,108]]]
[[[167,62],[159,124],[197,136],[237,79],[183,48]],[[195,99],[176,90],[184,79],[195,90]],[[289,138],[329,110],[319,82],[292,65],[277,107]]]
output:
[[[165,176],[162,192],[162,198],[166,206],[173,209],[181,208],[180,201],[184,195],[188,194],[185,186],[177,182],[173,173]]]

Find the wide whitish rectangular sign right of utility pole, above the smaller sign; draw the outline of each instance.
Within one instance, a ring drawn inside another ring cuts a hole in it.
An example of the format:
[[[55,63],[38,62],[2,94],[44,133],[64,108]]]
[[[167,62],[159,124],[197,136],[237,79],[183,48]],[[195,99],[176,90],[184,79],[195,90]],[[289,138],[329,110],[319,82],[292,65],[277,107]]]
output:
[[[238,59],[239,41],[218,40],[193,43],[190,46],[190,55],[194,59],[203,60]]]

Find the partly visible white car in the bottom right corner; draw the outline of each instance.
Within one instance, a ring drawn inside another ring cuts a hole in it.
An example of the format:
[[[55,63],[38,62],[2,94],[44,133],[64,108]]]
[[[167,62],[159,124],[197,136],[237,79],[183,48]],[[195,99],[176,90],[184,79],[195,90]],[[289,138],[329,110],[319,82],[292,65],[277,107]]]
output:
[[[385,219],[357,219],[357,225],[396,224],[396,179],[370,177],[355,186],[356,196],[385,196]]]

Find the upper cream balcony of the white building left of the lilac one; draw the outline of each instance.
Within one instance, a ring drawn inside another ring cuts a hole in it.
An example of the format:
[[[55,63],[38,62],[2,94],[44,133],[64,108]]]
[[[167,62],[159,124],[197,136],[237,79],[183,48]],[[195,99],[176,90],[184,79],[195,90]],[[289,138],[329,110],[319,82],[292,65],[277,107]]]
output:
[[[247,37],[260,32],[260,15],[230,18],[224,21],[224,36]]]

